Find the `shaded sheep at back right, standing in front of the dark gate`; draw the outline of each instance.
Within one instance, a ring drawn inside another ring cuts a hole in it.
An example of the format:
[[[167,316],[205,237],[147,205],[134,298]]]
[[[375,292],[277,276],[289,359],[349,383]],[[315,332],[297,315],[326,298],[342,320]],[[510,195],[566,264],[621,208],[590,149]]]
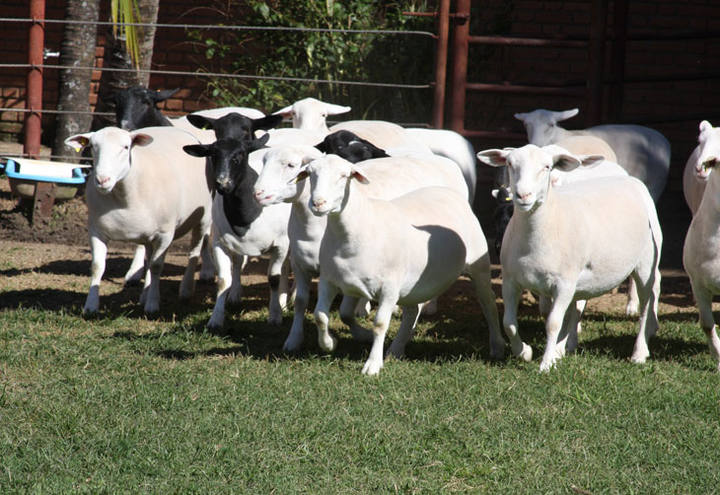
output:
[[[639,125],[598,125],[584,130],[568,131],[556,125],[577,115],[574,108],[563,112],[534,110],[516,113],[528,134],[528,142],[545,146],[578,135],[592,135],[606,141],[617,155],[616,163],[640,179],[655,203],[665,189],[670,171],[670,143],[658,131]]]

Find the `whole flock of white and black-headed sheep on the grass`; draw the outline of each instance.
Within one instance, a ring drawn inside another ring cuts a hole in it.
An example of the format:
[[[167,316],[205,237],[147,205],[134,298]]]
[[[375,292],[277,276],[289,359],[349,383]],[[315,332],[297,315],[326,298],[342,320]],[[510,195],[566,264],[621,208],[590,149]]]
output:
[[[378,374],[386,356],[403,356],[418,319],[461,275],[472,282],[493,359],[505,355],[505,337],[514,356],[532,359],[518,325],[522,291],[539,296],[546,315],[539,369],[547,372],[576,349],[585,301],[626,280],[626,312],[639,320],[631,361],[649,358],[648,341],[660,328],[656,203],[670,165],[670,144],[659,132],[637,125],[569,131],[558,122],[577,109],[535,110],[515,114],[527,145],[476,153],[447,130],[372,120],[328,126],[328,117],[350,107],[314,98],[270,115],[227,107],[170,119],[157,104],[172,94],[123,90],[115,98],[118,127],[66,140],[91,149],[94,161],[86,185],[92,264],[85,314],[99,311],[109,241],[137,244],[125,280],[143,280],[140,302],[153,314],[168,247],[191,233],[179,296],[192,295],[198,264],[200,278],[217,278],[209,330],[222,331],[225,304],[241,299],[247,259],[268,256],[268,322],[282,325],[283,311],[293,310],[283,350],[302,348],[316,279],[318,344],[326,352],[336,346],[329,309],[339,295],[342,323],[371,344],[363,374]],[[279,128],[283,121],[292,127]],[[720,371],[711,307],[720,293],[720,175],[713,173],[720,129],[703,121],[699,131],[683,177],[693,212],[683,263]],[[490,194],[476,189],[478,163],[501,171],[492,194],[502,319],[487,239],[472,210],[476,194]],[[386,351],[398,308],[400,328]],[[357,315],[369,311],[365,328]]]

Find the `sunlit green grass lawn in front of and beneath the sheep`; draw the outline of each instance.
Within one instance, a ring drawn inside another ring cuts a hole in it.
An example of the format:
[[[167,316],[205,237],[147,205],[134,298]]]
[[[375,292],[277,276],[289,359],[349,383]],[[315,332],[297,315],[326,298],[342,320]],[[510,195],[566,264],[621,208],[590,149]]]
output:
[[[489,361],[455,294],[368,378],[337,315],[335,353],[308,318],[291,357],[290,316],[267,326],[260,296],[221,337],[203,331],[209,296],[157,320],[102,299],[84,320],[77,291],[0,312],[0,493],[720,491],[720,378],[691,313],[661,319],[643,366],[633,322],[590,314],[580,352],[539,374]],[[521,325],[539,356],[541,320]]]

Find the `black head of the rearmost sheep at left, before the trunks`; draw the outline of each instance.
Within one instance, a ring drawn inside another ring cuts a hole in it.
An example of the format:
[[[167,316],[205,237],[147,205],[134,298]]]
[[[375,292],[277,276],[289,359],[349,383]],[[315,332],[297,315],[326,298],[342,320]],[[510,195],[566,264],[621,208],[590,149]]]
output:
[[[175,91],[153,91],[142,86],[118,91],[115,93],[115,119],[118,127],[134,131],[142,127],[171,125],[156,105]]]

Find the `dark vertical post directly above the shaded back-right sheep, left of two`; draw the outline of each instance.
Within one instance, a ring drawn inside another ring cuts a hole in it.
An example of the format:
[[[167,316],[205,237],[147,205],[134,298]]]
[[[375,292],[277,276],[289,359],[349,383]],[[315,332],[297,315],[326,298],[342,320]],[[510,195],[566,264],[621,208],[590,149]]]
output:
[[[590,13],[588,50],[588,94],[586,126],[602,121],[603,73],[605,70],[605,29],[608,0],[593,0]]]

